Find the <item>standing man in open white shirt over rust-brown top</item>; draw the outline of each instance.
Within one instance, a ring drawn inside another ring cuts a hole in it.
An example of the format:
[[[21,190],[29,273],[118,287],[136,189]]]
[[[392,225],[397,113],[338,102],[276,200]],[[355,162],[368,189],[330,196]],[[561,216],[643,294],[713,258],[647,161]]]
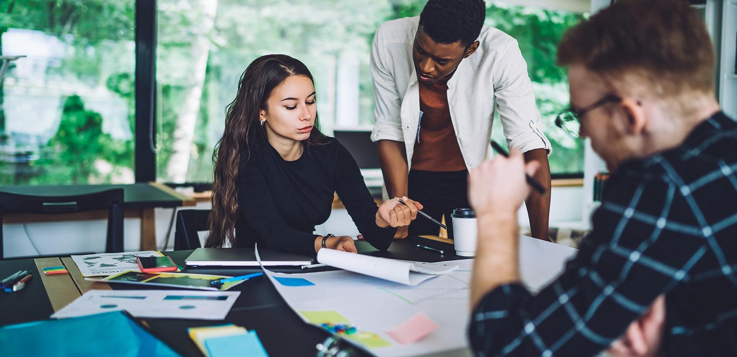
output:
[[[453,208],[468,208],[468,169],[490,154],[495,107],[510,148],[539,162],[537,180],[550,191],[551,145],[517,41],[483,26],[482,0],[430,0],[422,14],[382,24],[371,48],[374,116],[389,197],[409,196],[453,238]],[[496,99],[496,105],[495,105]],[[532,235],[548,239],[550,195],[526,200]],[[417,219],[394,238],[438,235]]]

